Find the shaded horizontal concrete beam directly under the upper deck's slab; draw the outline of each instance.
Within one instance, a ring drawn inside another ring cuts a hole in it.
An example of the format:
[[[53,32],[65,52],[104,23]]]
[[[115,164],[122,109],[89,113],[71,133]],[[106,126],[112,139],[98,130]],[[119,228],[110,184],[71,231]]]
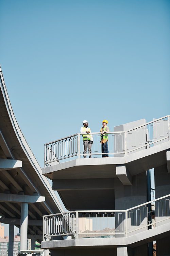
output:
[[[53,180],[53,190],[114,189],[114,179]]]

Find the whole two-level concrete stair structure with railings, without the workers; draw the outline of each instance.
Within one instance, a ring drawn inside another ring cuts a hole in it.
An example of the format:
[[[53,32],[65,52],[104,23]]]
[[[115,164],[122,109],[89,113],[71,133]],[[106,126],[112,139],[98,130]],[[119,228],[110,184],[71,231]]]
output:
[[[89,159],[80,133],[45,144],[43,175],[70,212],[43,217],[41,246],[52,256],[145,256],[156,240],[156,255],[170,255],[170,116],[114,127],[109,158],[91,136]]]

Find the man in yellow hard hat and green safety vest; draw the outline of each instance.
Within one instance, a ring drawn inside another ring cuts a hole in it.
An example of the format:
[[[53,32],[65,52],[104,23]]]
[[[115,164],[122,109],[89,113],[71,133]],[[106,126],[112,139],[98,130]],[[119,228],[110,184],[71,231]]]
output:
[[[107,120],[102,121],[102,128],[100,129],[101,132],[101,146],[102,146],[102,153],[108,153],[108,134],[109,127],[107,126]],[[108,154],[103,154],[102,157],[108,157]]]

